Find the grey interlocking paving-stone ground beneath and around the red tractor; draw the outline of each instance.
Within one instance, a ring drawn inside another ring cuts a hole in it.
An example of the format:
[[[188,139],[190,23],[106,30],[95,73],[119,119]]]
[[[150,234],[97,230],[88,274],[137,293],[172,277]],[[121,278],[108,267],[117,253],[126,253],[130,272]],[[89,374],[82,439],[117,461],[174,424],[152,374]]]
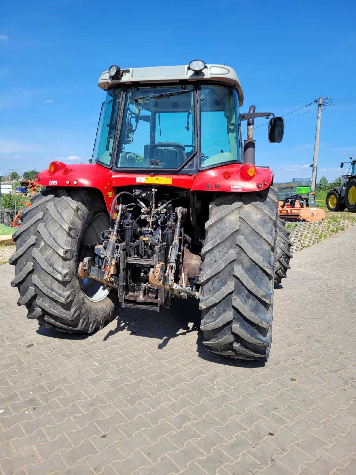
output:
[[[195,302],[39,328],[0,266],[2,475],[356,474],[356,228],[296,253],[266,364],[207,353]]]

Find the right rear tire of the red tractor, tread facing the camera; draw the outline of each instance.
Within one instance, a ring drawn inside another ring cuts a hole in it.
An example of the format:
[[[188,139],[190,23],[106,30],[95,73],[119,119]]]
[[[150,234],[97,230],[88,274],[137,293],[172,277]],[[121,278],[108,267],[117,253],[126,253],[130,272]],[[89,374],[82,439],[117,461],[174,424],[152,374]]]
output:
[[[277,190],[212,201],[202,250],[201,330],[207,350],[266,360],[272,343]]]

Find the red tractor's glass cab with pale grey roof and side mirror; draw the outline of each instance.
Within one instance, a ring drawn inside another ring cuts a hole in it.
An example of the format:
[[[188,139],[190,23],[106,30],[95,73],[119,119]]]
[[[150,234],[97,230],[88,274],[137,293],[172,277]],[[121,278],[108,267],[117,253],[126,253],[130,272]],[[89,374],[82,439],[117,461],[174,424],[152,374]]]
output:
[[[107,93],[93,162],[114,171],[195,174],[243,161],[243,92],[231,67],[200,60],[165,68],[112,66],[99,86]],[[281,121],[272,129],[281,137]]]

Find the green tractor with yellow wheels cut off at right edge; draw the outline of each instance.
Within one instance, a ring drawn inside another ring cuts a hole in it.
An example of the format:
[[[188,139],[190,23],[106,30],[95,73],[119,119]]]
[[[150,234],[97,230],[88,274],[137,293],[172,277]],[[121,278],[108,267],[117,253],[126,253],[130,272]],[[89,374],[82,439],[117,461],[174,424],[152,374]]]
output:
[[[330,211],[344,211],[356,213],[356,159],[350,156],[350,168],[347,175],[342,175],[341,186],[330,190],[326,197],[326,204]],[[344,162],[340,163],[343,168]]]

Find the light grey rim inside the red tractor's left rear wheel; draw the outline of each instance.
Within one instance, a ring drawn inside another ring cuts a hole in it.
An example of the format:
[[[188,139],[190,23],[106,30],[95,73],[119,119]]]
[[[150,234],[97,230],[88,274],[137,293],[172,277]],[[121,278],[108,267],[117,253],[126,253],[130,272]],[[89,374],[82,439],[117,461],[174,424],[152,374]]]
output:
[[[109,217],[107,213],[96,214],[84,229],[82,239],[79,244],[79,259],[83,259],[85,255],[92,256],[90,247],[98,242],[102,242],[100,235],[103,230],[109,228]],[[100,302],[110,292],[110,290],[100,282],[94,279],[79,278],[80,287],[85,297],[92,302]]]

